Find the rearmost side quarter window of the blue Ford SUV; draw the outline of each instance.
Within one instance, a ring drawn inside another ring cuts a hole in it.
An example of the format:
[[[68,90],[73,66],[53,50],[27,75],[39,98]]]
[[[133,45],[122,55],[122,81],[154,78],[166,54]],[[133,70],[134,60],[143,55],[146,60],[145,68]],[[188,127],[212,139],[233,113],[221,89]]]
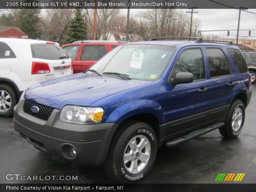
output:
[[[248,68],[244,60],[244,57],[242,56],[242,53],[237,49],[227,50],[230,56],[232,57],[234,63],[236,64],[236,67],[239,69],[240,73],[246,73],[248,71]]]

